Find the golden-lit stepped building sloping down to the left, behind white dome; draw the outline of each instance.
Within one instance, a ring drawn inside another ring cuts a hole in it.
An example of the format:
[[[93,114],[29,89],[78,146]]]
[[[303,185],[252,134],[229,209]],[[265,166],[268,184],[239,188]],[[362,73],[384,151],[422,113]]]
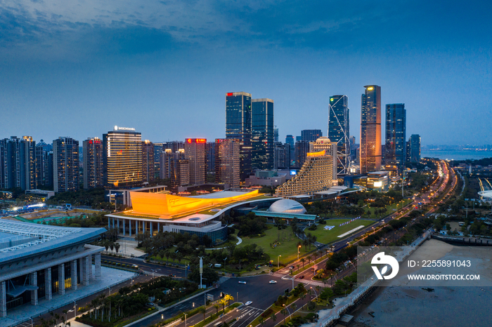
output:
[[[294,178],[277,187],[278,196],[315,194],[333,185],[333,158],[325,150],[309,152],[301,170]]]

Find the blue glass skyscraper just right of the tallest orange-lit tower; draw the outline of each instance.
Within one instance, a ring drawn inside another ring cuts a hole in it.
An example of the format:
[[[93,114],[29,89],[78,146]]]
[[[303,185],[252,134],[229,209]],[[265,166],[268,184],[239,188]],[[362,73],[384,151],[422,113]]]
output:
[[[384,164],[397,166],[399,173],[406,161],[406,109],[404,103],[386,105]]]

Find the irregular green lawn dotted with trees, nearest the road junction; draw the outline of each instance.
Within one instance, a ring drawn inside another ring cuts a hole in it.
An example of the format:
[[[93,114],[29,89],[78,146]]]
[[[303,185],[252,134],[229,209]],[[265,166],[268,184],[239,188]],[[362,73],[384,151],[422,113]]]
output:
[[[238,246],[245,246],[252,243],[257,244],[257,246],[261,246],[261,248],[264,249],[265,253],[270,256],[270,260],[273,260],[273,265],[275,266],[277,265],[278,255],[282,255],[280,257],[280,265],[282,265],[283,263],[284,265],[286,265],[287,262],[297,260],[297,242],[299,242],[300,239],[292,234],[292,229],[290,227],[287,227],[286,229],[280,231],[282,235],[280,237],[280,244],[278,244],[275,248],[272,248],[270,246],[271,243],[278,239],[278,232],[279,231],[277,227],[273,227],[271,229],[267,229],[265,231],[266,235],[262,237],[242,237],[242,243],[240,243],[240,245]],[[313,246],[311,246],[311,250],[312,249]],[[299,253],[300,255],[306,253],[306,251],[304,250],[304,246],[300,248]]]

